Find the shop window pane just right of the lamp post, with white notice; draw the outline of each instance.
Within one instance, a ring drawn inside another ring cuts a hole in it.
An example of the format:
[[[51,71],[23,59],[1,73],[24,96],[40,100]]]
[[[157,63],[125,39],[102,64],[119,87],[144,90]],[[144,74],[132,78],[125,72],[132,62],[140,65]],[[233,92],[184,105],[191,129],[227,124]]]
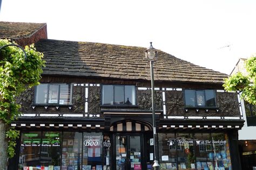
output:
[[[160,169],[176,169],[176,140],[174,133],[159,133]],[[179,148],[181,148],[179,146]]]

